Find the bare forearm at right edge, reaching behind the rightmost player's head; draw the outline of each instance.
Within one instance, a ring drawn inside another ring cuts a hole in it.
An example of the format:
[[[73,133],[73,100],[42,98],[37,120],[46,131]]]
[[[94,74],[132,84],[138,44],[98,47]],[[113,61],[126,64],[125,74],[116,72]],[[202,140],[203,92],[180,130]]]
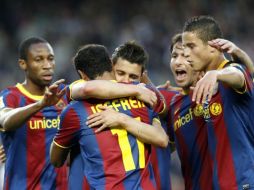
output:
[[[241,63],[246,65],[246,67],[250,70],[250,72],[252,74],[254,74],[253,62],[252,62],[250,56],[245,51],[238,48],[232,53],[232,57],[233,57],[234,60],[240,61]]]

